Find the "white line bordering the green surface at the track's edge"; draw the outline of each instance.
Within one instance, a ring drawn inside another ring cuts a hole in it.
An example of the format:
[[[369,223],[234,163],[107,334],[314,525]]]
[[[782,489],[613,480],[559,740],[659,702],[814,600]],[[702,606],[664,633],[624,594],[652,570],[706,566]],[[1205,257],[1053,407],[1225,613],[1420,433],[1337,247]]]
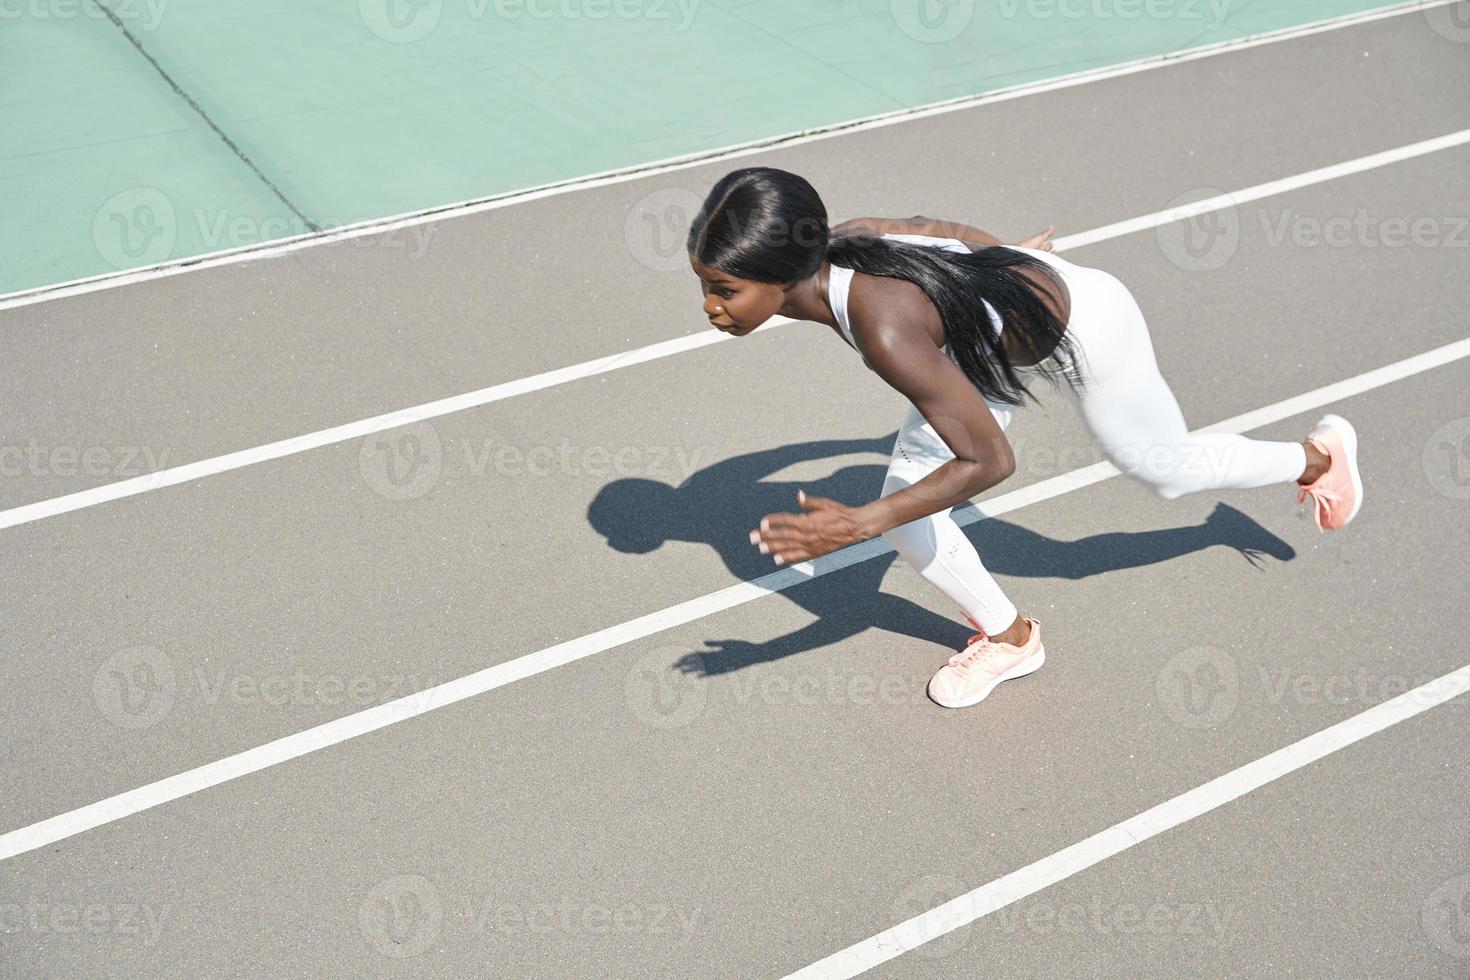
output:
[[[1073,72],[1070,75],[1060,75],[1057,78],[1042,79],[1036,82],[1026,82],[1022,85],[1008,85],[1005,88],[997,88],[994,91],[980,93],[978,96],[960,96],[957,98],[948,98],[944,101],[932,103],[929,106],[920,106],[916,109],[898,109],[876,116],[863,116],[860,119],[853,119],[850,122],[838,122],[828,126],[819,126],[817,129],[804,129],[798,134],[794,132],[779,137],[767,137],[763,140],[753,140],[748,143],[738,143],[717,150],[686,153],[684,156],[667,157],[664,160],[656,160],[653,163],[641,163],[631,167],[604,170],[603,173],[592,173],[588,176],[573,178],[569,181],[542,184],[520,191],[507,191],[504,194],[475,198],[459,204],[447,204],[442,207],[406,212],[403,215],[375,217],[363,222],[356,222],[353,225],[344,225],[341,228],[328,229],[318,234],[279,238],[269,242],[260,242],[257,245],[243,245],[238,248],[228,248],[222,251],[204,253],[200,256],[190,256],[185,259],[173,259],[169,262],[163,262],[154,266],[144,266],[140,269],[128,269],[123,272],[103,273],[98,276],[87,276],[84,279],[72,279],[69,282],[57,282],[51,285],[35,287],[31,289],[21,289],[16,292],[0,294],[0,310],[21,307],[21,306],[31,306],[35,303],[46,303],[63,297],[81,295],[85,292],[96,292],[98,289],[115,289],[119,287],[132,285],[135,282],[163,279],[185,272],[197,272],[201,269],[215,269],[219,266],[228,266],[241,262],[253,262],[257,259],[266,259],[270,256],[279,256],[290,251],[297,251],[300,248],[312,248],[315,245],[325,245],[325,244],[347,241],[351,238],[362,238],[366,235],[382,235],[387,232],[398,231],[403,228],[412,228],[415,225],[423,225],[428,222],[445,220],[450,217],[462,217],[466,215],[476,215],[481,212],[510,207],[513,204],[525,204],[528,201],[541,200],[544,197],[556,197],[559,194],[570,194],[573,191],[584,191],[595,187],[623,184],[626,181],[637,181],[648,176],[657,176],[660,173],[670,173],[673,170],[685,170],[692,166],[717,163],[720,160],[734,160],[754,153],[761,153],[776,145],[782,148],[797,147],[804,143],[831,140],[832,137],[845,135],[848,132],[879,129],[883,126],[892,126],[914,119],[926,119],[929,116],[958,112],[963,109],[973,109],[976,106],[983,106],[989,103],[1008,101],[1011,98],[1023,98],[1026,96],[1038,96],[1042,93],[1055,91],[1058,88],[1072,88],[1075,85],[1086,85],[1089,82],[1105,81],[1108,78],[1119,78],[1123,75],[1133,75],[1136,72],[1147,72],[1155,68],[1166,68],[1169,65],[1194,62],[1202,57],[1229,54],[1233,51],[1260,47],[1263,44],[1276,44],[1279,41],[1289,41],[1301,37],[1308,37],[1313,34],[1322,34],[1326,31],[1341,31],[1342,28],[1358,26],[1361,24],[1370,24],[1373,21],[1383,21],[1386,18],[1395,18],[1404,13],[1413,13],[1416,10],[1444,7],[1451,3],[1458,3],[1458,0],[1407,0],[1405,3],[1389,4],[1377,10],[1367,10],[1363,13],[1348,13],[1342,16],[1327,18],[1324,21],[1314,21],[1311,24],[1304,24],[1299,26],[1280,28],[1277,31],[1266,31],[1263,34],[1250,34],[1241,38],[1233,38],[1229,41],[1217,41],[1214,44],[1204,44],[1201,47],[1185,48],[1180,51],[1151,54],[1148,57],[1135,59],[1132,62],[1122,62],[1119,65],[1110,65],[1107,68]]]

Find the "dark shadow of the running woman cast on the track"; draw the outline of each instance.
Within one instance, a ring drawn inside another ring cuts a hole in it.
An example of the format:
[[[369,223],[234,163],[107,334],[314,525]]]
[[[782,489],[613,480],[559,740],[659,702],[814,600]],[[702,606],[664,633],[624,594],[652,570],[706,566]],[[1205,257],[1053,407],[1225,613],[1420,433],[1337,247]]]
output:
[[[822,439],[747,453],[707,466],[682,485],[629,478],[607,483],[588,507],[588,522],[607,544],[628,554],[648,554],[669,541],[692,541],[714,548],[741,582],[778,570],[769,555],[750,544],[750,530],[770,513],[800,513],[797,489],[860,505],[878,495],[897,430],[873,439]],[[766,480],[788,466],[811,460],[876,453],[882,464],[844,466],[831,476],[807,480]],[[964,507],[957,507],[961,511]],[[1085,579],[1102,572],[1158,564],[1216,545],[1238,551],[1260,569],[1261,557],[1280,561],[1295,550],[1260,523],[1226,504],[1185,527],[1107,532],[1058,541],[998,517],[966,527],[992,573],[1016,577]],[[878,627],[901,636],[960,648],[975,630],[958,619],[882,591],[882,579],[898,555],[888,552],[782,592],[814,617],[807,626],[770,642],[707,639],[710,649],[692,652],[681,670],[711,676],[838,644]],[[938,591],[932,605],[950,605]],[[954,610],[956,617],[958,610]]]

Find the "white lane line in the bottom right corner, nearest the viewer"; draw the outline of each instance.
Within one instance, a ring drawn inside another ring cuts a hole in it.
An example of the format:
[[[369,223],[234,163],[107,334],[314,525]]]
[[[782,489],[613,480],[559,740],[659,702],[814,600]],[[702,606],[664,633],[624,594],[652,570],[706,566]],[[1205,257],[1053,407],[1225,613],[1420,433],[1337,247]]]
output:
[[[989,884],[966,892],[944,905],[883,930],[872,939],[864,939],[825,959],[798,970],[786,980],[845,980],[866,973],[873,967],[901,954],[938,939],[948,932],[967,926],[991,912],[1035,895],[1048,884],[1055,884],[1094,864],[1133,848],[1150,837],[1163,833],[1201,814],[1223,807],[1232,799],[1260,789],[1261,786],[1294,773],[1302,765],[1332,755],[1341,748],[1360,742],[1376,732],[1398,724],[1416,714],[1429,711],[1451,698],[1470,691],[1470,664],[1452,670],[1442,677],[1398,695],[1392,701],[1373,705],[1367,711],[1345,721],[1308,735],[1299,742],[1276,749],[1254,763],[1211,779],[1202,786],[1180,793],[1173,799],[1145,810],[1136,817],[1116,823],[1107,830],[1092,835],[1070,848],[1057,851],[1033,864],[995,879]]]

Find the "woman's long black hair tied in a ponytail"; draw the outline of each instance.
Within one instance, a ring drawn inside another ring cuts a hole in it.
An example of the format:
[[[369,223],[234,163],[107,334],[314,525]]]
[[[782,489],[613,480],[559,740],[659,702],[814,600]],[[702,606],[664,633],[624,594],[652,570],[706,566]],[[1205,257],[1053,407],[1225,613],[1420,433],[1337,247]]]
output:
[[[939,310],[944,336],[960,370],[986,397],[1020,406],[1036,400],[1016,373],[982,301],[995,307],[1005,331],[1039,363],[1035,370],[1055,385],[1073,386],[1078,350],[1067,325],[1036,295],[1020,269],[1033,270],[1060,294],[1060,276],[1045,262],[1000,245],[972,253],[895,241],[875,234],[832,237],[826,206],[801,176],[775,167],[726,173],[710,190],[689,226],[691,256],[726,275],[788,285],[823,262],[873,276],[913,282]],[[994,353],[986,356],[982,342]],[[1045,356],[1045,357],[1041,357]]]

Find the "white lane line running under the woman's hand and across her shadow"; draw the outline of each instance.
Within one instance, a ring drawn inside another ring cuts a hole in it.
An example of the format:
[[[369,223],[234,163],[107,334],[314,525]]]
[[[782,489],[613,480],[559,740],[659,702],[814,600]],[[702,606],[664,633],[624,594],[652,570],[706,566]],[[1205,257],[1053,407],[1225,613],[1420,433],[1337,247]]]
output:
[[[1316,391],[1257,408],[1255,411],[1219,422],[1201,430],[1245,432],[1250,426],[1266,425],[1267,422],[1273,422],[1276,419],[1283,419],[1295,413],[1308,411],[1319,406],[1341,401],[1349,395],[1372,391],[1373,388],[1380,388],[1394,381],[1408,378],[1410,375],[1417,375],[1464,357],[1470,357],[1470,339],[1445,344],[1444,347],[1438,347],[1432,351],[1424,351],[1423,354],[1416,354],[1414,357],[1402,361],[1395,361],[1394,364],[1388,364],[1385,367],[1317,388]],[[1242,420],[1245,425],[1238,425]],[[1001,494],[994,500],[982,501],[973,507],[960,508],[956,511],[956,520],[961,525],[975,523],[978,520],[983,520],[985,517],[1005,514],[1053,497],[1082,489],[1083,486],[1089,486],[1092,483],[1100,483],[1117,475],[1119,470],[1111,463],[1094,463],[1092,466],[1085,466],[1070,473],[1063,473],[1061,476],[1054,476],[1048,480],[1023,486],[1022,489],[1011,491],[1010,494]],[[553,667],[560,667],[594,654],[606,652],[616,646],[622,646],[623,644],[653,636],[654,633],[660,633],[675,626],[682,626],[684,623],[692,623],[694,620],[713,616],[714,613],[734,608],[736,605],[744,605],[745,602],[751,602],[775,592],[785,592],[786,589],[792,589],[804,582],[810,582],[811,579],[876,558],[878,555],[888,554],[889,551],[892,551],[892,547],[883,538],[872,538],[861,544],[842,548],[841,551],[822,555],[813,561],[798,561],[797,564],[779,569],[778,572],[772,572],[770,574],[764,574],[751,582],[741,582],[739,585],[732,585],[720,589],[719,592],[688,599],[685,602],[679,602],[678,605],[670,605],[669,608],[657,610],[654,613],[648,613],[647,616],[639,616],[638,619],[619,623],[617,626],[610,626],[595,633],[566,641],[564,644],[547,646],[545,649],[517,657],[509,663],[495,664],[494,667],[487,667],[485,670],[459,677],[457,680],[448,680],[434,688],[425,688],[417,693],[398,698],[397,701],[390,701],[334,721],[326,721],[315,729],[297,732],[295,735],[288,735],[237,755],[222,758],[216,763],[209,763],[206,765],[200,765],[198,768],[191,768],[185,773],[148,783],[147,786],[140,786],[138,789],[109,796],[107,799],[88,804],[78,810],[41,820],[28,827],[21,827],[19,830],[12,830],[0,836],[0,861],[13,858],[18,854],[25,854],[26,851],[44,848],[49,843],[63,840],[65,837],[82,833],[84,830],[100,827],[106,823],[179,799],[181,796],[196,793],[201,789],[218,786],[232,779],[240,779],[241,776],[269,768],[270,765],[279,765],[281,763],[287,763],[309,752],[357,738],[359,735],[366,735],[390,724],[416,718],[420,714],[442,708],[454,704],[456,701],[463,701],[465,698],[472,698],[487,691],[504,688],[516,680],[534,677],[535,674],[545,673]]]

